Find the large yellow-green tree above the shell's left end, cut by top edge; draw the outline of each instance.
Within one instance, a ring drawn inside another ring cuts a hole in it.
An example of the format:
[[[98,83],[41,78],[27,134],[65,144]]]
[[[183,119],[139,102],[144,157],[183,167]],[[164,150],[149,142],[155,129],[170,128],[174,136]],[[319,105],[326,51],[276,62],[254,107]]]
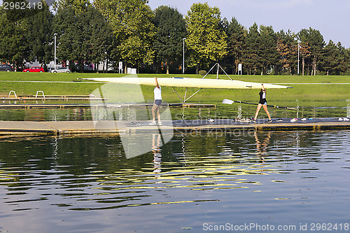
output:
[[[120,57],[137,68],[141,63],[151,63],[154,57],[154,15],[147,3],[148,0],[94,1],[111,25]]]

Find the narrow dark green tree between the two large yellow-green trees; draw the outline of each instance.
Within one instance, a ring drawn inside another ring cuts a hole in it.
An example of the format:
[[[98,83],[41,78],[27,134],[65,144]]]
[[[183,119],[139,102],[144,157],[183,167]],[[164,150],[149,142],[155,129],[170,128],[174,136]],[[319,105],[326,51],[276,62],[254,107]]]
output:
[[[178,10],[169,6],[160,6],[155,9],[154,19],[155,57],[158,64],[165,64],[167,74],[169,66],[179,67],[183,55],[183,38],[186,37],[186,22]]]

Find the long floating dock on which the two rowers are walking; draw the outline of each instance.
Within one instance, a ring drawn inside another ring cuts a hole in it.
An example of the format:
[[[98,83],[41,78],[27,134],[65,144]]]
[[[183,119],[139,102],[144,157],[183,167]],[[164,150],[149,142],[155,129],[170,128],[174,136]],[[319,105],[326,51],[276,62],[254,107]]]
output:
[[[350,121],[339,118],[318,118],[290,122],[290,118],[272,123],[267,120],[242,122],[223,120],[169,120],[162,125],[149,125],[150,121],[0,121],[0,135],[75,135],[75,134],[121,134],[142,132],[193,133],[193,132],[235,132],[237,130],[325,130],[350,129]]]

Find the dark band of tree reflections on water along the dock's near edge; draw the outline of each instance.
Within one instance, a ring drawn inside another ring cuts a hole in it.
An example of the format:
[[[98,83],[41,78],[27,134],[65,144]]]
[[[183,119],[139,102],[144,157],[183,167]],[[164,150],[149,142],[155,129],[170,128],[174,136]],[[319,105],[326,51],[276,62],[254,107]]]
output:
[[[127,171],[160,172],[177,169],[179,167],[207,166],[211,157],[225,157],[229,153],[232,157],[246,160],[255,155],[273,155],[274,161],[284,161],[288,156],[307,157],[308,161],[321,160],[320,143],[335,141],[339,132],[254,132],[240,135],[227,134],[175,134],[174,139],[160,151],[161,138],[153,135],[153,153],[146,153],[127,159],[123,153],[123,146],[119,136],[76,136],[76,137],[34,137],[10,138],[0,141],[0,169],[11,168],[11,171],[61,171],[78,177],[86,174],[116,174],[126,176]],[[328,139],[325,136],[332,136]],[[316,139],[315,139],[316,138]],[[285,148],[288,148],[286,150]],[[304,148],[313,148],[310,150]],[[223,153],[230,149],[229,153]],[[162,152],[162,153],[161,153]],[[228,160],[228,163],[240,163],[241,160]],[[220,161],[218,163],[221,163]],[[195,165],[194,165],[195,164]],[[13,169],[15,168],[15,169]],[[17,176],[21,179],[21,176]],[[26,176],[23,176],[26,178]],[[83,180],[82,180],[83,182]],[[131,182],[131,181],[130,181]]]

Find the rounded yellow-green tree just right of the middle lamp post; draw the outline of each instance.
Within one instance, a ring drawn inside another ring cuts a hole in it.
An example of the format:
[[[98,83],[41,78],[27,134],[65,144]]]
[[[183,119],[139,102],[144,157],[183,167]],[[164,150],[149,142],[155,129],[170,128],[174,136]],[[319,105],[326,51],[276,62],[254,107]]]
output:
[[[195,3],[186,15],[188,38],[186,44],[192,50],[190,66],[208,66],[218,62],[227,53],[226,34],[221,27],[221,13],[217,7],[211,8],[208,3]]]

